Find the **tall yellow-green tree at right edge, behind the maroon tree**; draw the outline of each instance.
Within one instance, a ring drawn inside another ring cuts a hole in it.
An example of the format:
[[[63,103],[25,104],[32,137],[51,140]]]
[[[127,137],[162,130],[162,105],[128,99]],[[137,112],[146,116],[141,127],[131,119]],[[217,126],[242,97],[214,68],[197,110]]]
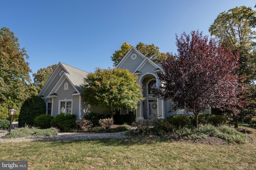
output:
[[[209,28],[222,47],[232,49],[233,54],[239,53],[239,68],[235,71],[244,81],[240,82],[245,90],[240,94],[244,99],[244,107],[239,108],[240,114],[231,114],[235,125],[238,121],[255,114],[255,84],[256,80],[256,43],[254,42],[256,32],[253,27],[256,24],[256,11],[250,7],[241,6],[220,13]]]

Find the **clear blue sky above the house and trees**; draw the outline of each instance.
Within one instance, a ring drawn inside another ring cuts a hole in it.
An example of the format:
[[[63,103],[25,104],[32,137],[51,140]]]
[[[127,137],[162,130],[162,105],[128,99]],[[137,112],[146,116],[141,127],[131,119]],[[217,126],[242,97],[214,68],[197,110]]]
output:
[[[63,62],[87,72],[113,66],[124,42],[177,50],[175,34],[203,31],[218,14],[253,0],[5,0],[0,28],[8,27],[29,55],[33,73]],[[32,75],[32,74],[31,74]]]

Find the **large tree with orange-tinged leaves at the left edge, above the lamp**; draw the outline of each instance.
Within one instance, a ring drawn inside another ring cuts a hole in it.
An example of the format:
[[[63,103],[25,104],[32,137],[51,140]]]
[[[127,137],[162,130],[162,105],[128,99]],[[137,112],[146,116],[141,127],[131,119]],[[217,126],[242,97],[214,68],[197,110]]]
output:
[[[0,29],[0,103],[7,103],[9,99],[18,105],[34,94],[30,86],[31,72],[25,49],[20,49],[18,38],[10,29]],[[12,106],[10,106],[12,107]]]

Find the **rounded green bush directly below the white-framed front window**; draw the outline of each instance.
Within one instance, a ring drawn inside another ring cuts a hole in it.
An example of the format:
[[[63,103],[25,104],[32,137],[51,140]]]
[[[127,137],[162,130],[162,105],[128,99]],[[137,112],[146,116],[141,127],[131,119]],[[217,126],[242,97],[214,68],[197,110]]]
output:
[[[68,132],[75,128],[76,115],[59,114],[54,119],[52,119],[50,124],[52,127],[60,129],[60,131]]]

